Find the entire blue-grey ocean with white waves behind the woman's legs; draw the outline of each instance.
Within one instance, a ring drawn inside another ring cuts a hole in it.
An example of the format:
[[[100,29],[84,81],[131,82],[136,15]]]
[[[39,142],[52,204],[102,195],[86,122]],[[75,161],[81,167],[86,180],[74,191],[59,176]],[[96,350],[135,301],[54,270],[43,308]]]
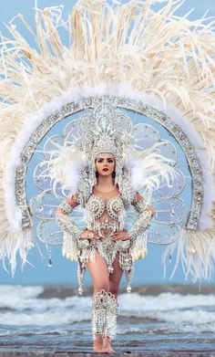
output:
[[[91,292],[0,286],[0,352],[93,352]],[[215,353],[214,287],[136,286],[118,302],[116,352]]]

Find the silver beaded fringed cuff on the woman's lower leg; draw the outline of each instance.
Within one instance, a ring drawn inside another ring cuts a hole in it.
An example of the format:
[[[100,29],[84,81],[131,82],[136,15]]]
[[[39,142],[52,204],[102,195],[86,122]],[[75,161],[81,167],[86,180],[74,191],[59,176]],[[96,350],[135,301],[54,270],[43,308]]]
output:
[[[118,302],[113,294],[100,290],[92,301],[92,331],[112,339],[117,331]]]

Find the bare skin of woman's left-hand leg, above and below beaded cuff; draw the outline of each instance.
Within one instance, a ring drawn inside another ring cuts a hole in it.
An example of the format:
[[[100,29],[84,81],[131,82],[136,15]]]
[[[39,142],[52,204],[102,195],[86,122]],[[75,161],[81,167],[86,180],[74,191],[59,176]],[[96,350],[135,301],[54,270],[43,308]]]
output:
[[[106,260],[99,255],[97,250],[96,250],[96,261],[88,262],[87,270],[93,280],[93,286],[94,286],[93,299],[95,299],[97,293],[99,293],[99,291],[101,291],[102,289],[104,289],[105,291],[109,291],[109,275],[107,270],[107,263]],[[96,333],[94,338],[95,338],[93,344],[94,351],[102,352],[103,336],[99,333]]]

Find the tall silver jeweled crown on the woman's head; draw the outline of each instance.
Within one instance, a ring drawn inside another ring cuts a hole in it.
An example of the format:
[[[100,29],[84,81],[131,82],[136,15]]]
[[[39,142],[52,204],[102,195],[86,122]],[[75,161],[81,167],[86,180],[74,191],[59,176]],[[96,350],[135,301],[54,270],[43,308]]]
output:
[[[87,162],[94,163],[99,153],[115,156],[120,166],[132,142],[133,124],[122,110],[103,101],[87,115],[79,118],[79,150]]]

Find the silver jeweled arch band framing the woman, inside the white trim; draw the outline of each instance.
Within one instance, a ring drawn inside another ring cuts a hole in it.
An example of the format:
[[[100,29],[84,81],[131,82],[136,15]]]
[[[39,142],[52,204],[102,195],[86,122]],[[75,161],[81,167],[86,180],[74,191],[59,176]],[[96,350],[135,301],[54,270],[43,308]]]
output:
[[[16,168],[15,173],[15,201],[16,205],[19,206],[22,212],[23,228],[25,229],[33,225],[26,202],[26,169],[33,153],[36,150],[36,145],[42,140],[46,133],[51,130],[51,128],[56,124],[56,122],[61,121],[68,115],[77,113],[80,110],[87,110],[88,108],[94,109],[102,101],[106,101],[109,105],[115,106],[116,108],[118,107],[123,109],[125,108],[127,110],[135,110],[140,114],[148,116],[148,118],[159,122],[163,127],[165,127],[177,140],[177,142],[179,142],[179,145],[183,149],[183,152],[185,153],[187,161],[189,163],[189,171],[191,173],[193,183],[192,203],[186,227],[189,229],[197,229],[204,194],[203,174],[199,158],[197,156],[197,153],[195,152],[195,148],[189,142],[188,136],[180,129],[178,125],[174,123],[174,121],[171,121],[170,118],[166,116],[163,112],[155,110],[147,105],[143,105],[143,103],[138,102],[136,100],[128,100],[114,96],[103,96],[102,98],[89,97],[79,103],[67,103],[60,110],[48,116],[43,122],[41,122],[41,124],[37,127],[36,131],[32,132],[29,141],[26,142],[25,149],[23,150],[23,152],[21,152],[21,164]],[[97,116],[99,117],[99,113],[97,113]],[[84,176],[85,174],[86,173],[84,172],[81,173],[82,176]],[[127,173],[123,174],[123,186],[125,187],[124,192],[126,193],[127,191],[125,177]],[[129,177],[127,178],[127,180],[129,181]],[[84,183],[84,179],[82,180],[82,182]],[[122,184],[122,182],[120,182],[120,184]],[[86,192],[85,190],[86,189],[83,188],[83,192]],[[86,197],[84,197],[86,200],[89,194],[90,192],[88,188]],[[83,201],[83,197],[80,197],[80,200]]]

